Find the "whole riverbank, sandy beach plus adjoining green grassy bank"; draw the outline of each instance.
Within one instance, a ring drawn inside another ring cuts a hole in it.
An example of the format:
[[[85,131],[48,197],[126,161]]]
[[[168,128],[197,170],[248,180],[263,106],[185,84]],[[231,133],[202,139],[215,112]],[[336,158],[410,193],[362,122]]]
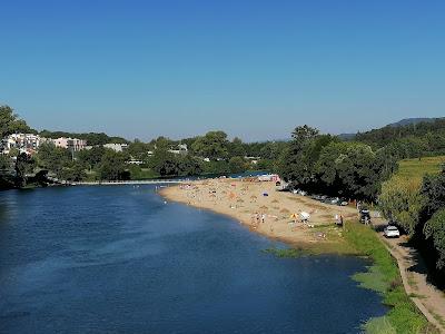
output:
[[[356,222],[355,207],[320,204],[277,191],[274,183],[248,179],[194,181],[165,188],[160,194],[169,200],[230,216],[250,230],[283,240],[294,249],[370,257],[373,266],[354,278],[363,287],[379,293],[390,311],[384,317],[369,320],[364,330],[367,333],[437,333],[406,293],[397,263],[377,234],[357,223],[347,223],[344,228],[335,226],[336,215],[342,215],[345,222]],[[308,224],[295,222],[293,215],[300,212],[310,214]],[[298,254],[288,252],[284,256]]]

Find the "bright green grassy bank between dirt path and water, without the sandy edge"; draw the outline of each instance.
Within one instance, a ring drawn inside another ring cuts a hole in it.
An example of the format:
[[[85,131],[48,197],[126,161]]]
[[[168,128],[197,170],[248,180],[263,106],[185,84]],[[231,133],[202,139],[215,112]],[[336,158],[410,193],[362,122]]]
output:
[[[390,307],[387,315],[364,325],[367,333],[437,333],[406,294],[395,259],[369,227],[348,223],[346,240],[373,259],[366,273],[354,275],[360,286],[379,293]]]

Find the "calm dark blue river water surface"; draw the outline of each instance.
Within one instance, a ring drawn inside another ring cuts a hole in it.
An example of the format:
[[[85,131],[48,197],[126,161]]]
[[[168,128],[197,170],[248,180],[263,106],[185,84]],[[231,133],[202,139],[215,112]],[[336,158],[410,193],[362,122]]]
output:
[[[358,333],[355,257],[283,246],[152,186],[0,193],[1,333]]]

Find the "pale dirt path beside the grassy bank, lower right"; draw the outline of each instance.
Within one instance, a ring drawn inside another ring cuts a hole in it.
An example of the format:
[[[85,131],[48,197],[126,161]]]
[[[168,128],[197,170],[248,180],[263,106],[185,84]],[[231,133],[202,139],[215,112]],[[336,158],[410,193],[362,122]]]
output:
[[[382,227],[380,220],[375,226]],[[427,269],[418,252],[407,246],[407,238],[387,239],[378,233],[383,243],[397,261],[406,293],[441,333],[445,333],[445,294],[427,282]]]

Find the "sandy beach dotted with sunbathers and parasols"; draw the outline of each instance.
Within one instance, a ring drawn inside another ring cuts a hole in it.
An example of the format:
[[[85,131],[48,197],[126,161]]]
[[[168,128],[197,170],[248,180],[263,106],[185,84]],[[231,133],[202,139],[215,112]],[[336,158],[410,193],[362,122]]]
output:
[[[309,197],[278,191],[274,181],[207,179],[164,188],[169,200],[210,209],[235,218],[249,229],[291,245],[335,244],[343,238],[336,216],[357,218],[354,206],[323,204]],[[310,214],[301,222],[299,214]]]

